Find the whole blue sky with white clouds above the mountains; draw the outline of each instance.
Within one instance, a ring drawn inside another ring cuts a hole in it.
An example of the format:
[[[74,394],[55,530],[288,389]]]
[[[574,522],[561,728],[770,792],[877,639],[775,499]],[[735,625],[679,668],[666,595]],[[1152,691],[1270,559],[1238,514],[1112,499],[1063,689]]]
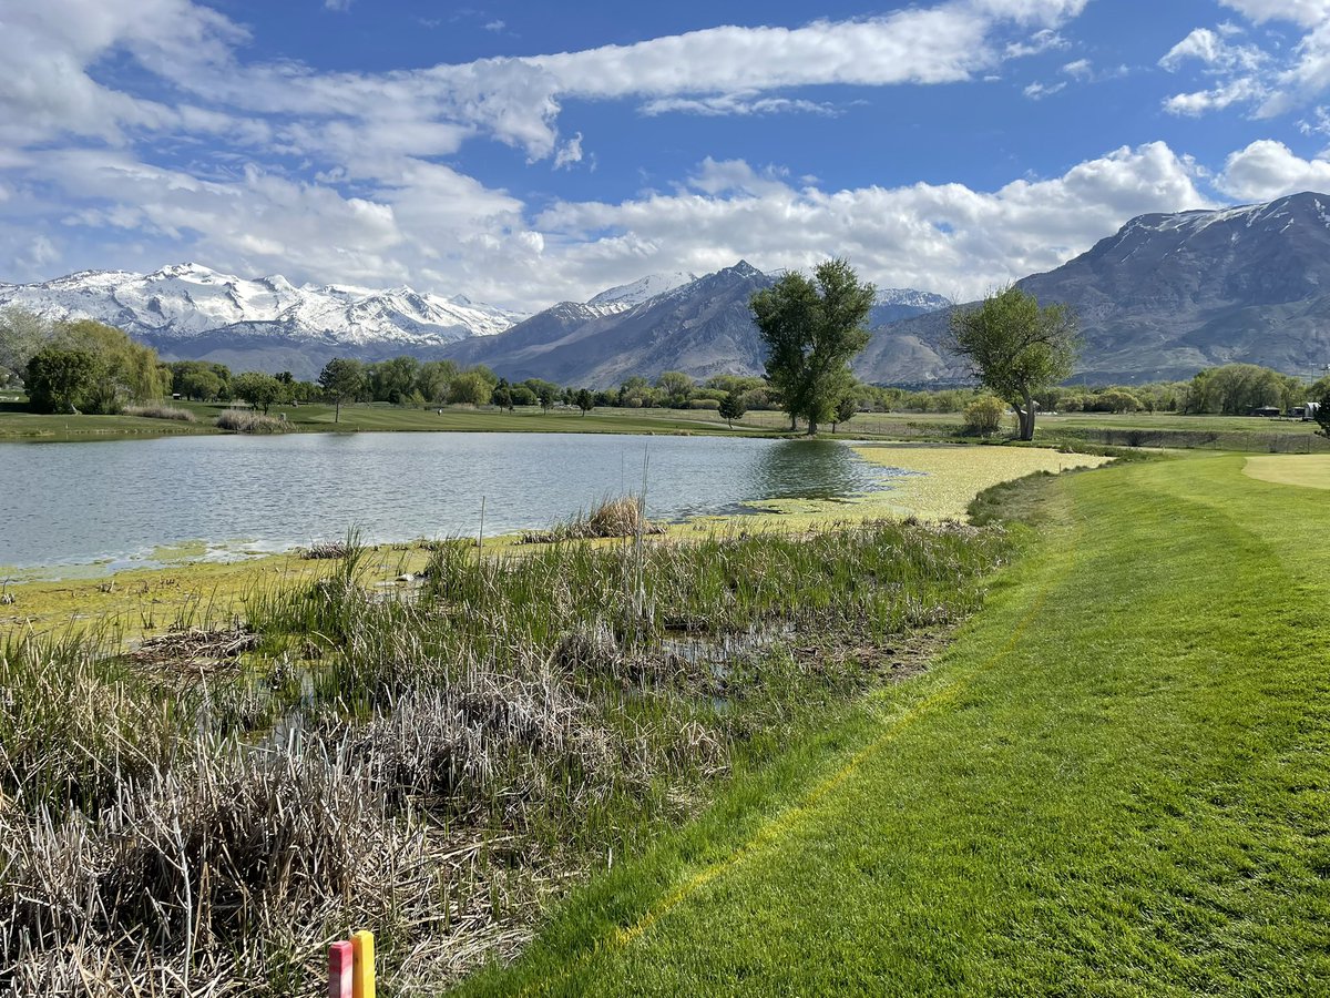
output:
[[[952,297],[1330,190],[1330,0],[0,0],[0,281],[519,309],[846,255]]]

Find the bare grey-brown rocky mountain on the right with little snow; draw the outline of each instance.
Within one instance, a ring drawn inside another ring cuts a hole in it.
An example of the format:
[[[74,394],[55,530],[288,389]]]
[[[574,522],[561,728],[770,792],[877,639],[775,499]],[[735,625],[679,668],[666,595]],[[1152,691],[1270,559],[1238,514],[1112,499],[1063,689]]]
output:
[[[1330,196],[1133,218],[1047,274],[1017,282],[1067,302],[1091,382],[1188,378],[1246,362],[1311,377],[1330,361]],[[879,382],[964,374],[940,349],[946,314],[876,330],[859,359]]]

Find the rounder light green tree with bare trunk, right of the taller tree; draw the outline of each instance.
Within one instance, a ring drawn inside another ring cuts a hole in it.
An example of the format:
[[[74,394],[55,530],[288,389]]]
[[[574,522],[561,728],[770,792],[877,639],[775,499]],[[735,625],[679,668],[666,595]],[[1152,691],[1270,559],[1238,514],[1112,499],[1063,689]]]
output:
[[[1080,335],[1065,305],[1040,306],[1035,295],[1009,286],[951,313],[950,347],[1016,411],[1020,439],[1032,440],[1035,394],[1071,377]]]

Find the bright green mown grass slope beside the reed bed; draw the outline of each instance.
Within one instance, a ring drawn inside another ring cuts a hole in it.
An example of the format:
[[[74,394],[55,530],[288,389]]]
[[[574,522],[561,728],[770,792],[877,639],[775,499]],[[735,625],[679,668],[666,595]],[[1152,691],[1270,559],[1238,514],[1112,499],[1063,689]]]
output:
[[[1330,993],[1330,506],[1244,460],[1044,484],[931,672],[462,993]]]

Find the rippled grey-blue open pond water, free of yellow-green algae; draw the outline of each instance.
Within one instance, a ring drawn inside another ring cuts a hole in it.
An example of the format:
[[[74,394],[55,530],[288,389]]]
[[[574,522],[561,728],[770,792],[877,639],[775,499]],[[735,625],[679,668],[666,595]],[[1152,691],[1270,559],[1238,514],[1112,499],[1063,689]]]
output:
[[[833,440],[293,434],[0,444],[0,566],[105,570],[336,540],[548,528],[641,491],[653,519],[834,498],[884,475]]]

